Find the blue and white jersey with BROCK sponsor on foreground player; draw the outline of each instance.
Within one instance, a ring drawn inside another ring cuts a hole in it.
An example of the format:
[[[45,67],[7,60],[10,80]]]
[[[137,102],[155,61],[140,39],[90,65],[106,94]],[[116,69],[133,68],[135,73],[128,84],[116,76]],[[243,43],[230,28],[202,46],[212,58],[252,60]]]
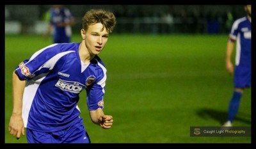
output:
[[[79,93],[86,90],[89,110],[103,109],[106,67],[95,56],[85,64],[80,43],[54,43],[16,67],[26,79],[22,118],[29,129],[54,132],[79,122]]]

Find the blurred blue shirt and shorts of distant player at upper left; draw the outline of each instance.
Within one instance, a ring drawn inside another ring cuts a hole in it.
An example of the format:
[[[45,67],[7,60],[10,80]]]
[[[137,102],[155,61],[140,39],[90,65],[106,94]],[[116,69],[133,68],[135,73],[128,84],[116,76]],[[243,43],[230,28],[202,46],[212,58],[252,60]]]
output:
[[[70,26],[59,27],[61,22],[68,22],[73,19],[72,14],[67,8],[51,8],[50,22],[54,26],[53,35],[54,43],[67,43],[70,42],[70,36],[72,35],[72,29]]]

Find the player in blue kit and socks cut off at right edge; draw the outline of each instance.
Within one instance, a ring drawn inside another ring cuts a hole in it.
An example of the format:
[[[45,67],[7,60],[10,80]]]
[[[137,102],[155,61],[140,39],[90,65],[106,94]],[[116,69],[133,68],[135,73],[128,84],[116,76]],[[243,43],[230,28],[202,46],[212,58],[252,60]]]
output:
[[[229,35],[226,51],[226,69],[234,73],[234,93],[228,107],[228,119],[223,125],[232,127],[232,122],[238,112],[240,99],[244,88],[251,86],[251,5],[244,6],[246,17],[237,19]],[[236,67],[234,69],[231,57],[236,42]]]

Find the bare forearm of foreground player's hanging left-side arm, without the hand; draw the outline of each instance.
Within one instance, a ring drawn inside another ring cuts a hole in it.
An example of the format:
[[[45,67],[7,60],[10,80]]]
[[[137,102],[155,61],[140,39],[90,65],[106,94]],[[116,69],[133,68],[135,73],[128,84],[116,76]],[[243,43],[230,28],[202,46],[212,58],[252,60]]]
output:
[[[21,81],[17,74],[13,72],[12,92],[13,92],[13,114],[22,113],[22,96],[26,81]]]

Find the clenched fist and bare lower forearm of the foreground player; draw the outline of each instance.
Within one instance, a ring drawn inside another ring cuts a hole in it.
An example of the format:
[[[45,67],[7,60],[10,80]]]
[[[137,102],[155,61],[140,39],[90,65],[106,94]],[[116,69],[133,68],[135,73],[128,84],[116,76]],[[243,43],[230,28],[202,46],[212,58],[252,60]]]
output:
[[[100,125],[103,129],[110,129],[113,125],[113,116],[104,115],[100,107],[94,111],[90,111],[90,118],[93,123]]]

